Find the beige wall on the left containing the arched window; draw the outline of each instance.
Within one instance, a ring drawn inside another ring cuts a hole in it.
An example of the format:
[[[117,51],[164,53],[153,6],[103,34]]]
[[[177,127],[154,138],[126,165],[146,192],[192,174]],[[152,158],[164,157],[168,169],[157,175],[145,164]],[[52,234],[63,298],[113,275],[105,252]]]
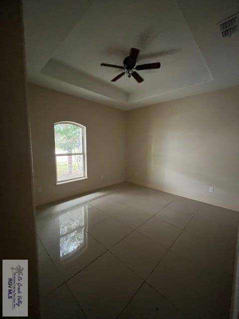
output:
[[[37,205],[125,180],[123,111],[32,84],[28,104]],[[88,179],[56,185],[53,125],[59,121],[86,126]]]

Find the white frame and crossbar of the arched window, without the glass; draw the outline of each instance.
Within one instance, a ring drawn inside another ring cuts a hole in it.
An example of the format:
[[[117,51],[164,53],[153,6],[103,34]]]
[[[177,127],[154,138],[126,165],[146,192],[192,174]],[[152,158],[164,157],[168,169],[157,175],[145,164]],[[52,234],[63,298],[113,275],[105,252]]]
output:
[[[83,153],[67,153],[67,154],[56,154],[56,139],[55,139],[55,125],[58,124],[72,124],[75,126],[78,126],[82,129],[82,152]],[[72,122],[72,121],[60,121],[53,124],[53,133],[54,133],[54,148],[55,148],[55,167],[56,167],[56,185],[69,183],[77,180],[87,179],[87,146],[86,146],[86,127],[80,123]],[[70,179],[64,179],[58,181],[57,177],[57,157],[58,156],[73,156],[73,155],[83,155],[83,161],[84,161],[84,176],[83,177],[76,177],[76,178],[70,178]]]

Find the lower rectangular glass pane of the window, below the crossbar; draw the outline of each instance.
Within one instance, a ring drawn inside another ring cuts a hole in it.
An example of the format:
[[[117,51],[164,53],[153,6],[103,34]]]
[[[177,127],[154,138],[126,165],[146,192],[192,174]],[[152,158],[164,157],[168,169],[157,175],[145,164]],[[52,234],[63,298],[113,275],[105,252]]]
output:
[[[84,177],[84,155],[56,156],[57,181]]]

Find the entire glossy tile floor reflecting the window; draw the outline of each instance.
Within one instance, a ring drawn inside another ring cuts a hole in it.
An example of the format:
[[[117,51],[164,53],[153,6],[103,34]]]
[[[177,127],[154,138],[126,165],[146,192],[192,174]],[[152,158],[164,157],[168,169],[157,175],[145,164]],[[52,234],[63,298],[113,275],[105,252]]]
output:
[[[38,207],[42,317],[228,319],[238,224],[129,183]]]

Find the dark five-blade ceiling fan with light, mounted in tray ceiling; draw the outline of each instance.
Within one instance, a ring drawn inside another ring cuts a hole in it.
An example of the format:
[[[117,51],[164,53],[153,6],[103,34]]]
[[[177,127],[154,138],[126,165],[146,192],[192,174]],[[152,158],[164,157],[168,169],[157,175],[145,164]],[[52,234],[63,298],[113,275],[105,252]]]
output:
[[[123,66],[115,65],[115,64],[108,64],[108,63],[101,63],[101,66],[108,66],[111,68],[117,68],[117,69],[124,70],[122,73],[119,73],[114,79],[112,79],[111,82],[116,82],[124,74],[126,74],[126,76],[128,78],[130,78],[132,76],[138,83],[141,83],[144,81],[144,79],[135,70],[139,71],[139,70],[149,70],[149,69],[159,69],[160,68],[159,62],[139,64],[139,65],[135,66],[136,60],[138,57],[138,53],[139,53],[138,49],[131,48],[129,56],[127,56],[123,60]]]

